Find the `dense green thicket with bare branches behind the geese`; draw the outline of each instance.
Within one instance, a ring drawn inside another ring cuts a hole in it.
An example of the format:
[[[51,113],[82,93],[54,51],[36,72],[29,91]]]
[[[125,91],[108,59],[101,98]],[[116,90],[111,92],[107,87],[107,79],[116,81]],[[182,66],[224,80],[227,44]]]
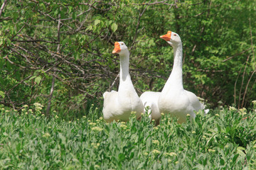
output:
[[[186,89],[213,107],[249,106],[256,98],[255,18],[254,0],[5,0],[0,102],[13,108],[40,102],[49,111],[101,103],[102,93],[118,86],[119,58],[111,52],[121,40],[138,93],[161,91],[173,55],[159,35],[172,30],[183,40]]]

